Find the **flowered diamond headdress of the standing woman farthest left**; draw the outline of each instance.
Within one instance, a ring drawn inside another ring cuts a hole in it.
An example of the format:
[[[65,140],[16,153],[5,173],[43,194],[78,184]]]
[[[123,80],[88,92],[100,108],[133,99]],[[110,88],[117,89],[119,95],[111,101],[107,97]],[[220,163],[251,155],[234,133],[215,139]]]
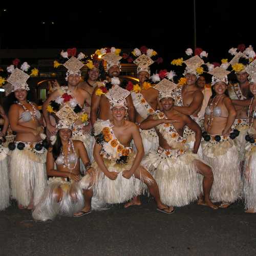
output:
[[[38,69],[34,68],[30,70],[31,67],[28,62],[23,62],[20,67],[19,62],[19,59],[14,59],[12,65],[7,67],[7,72],[11,73],[11,75],[7,79],[0,76],[0,86],[3,86],[3,84],[7,81],[9,84],[11,84],[11,90],[9,90],[10,92],[14,92],[19,89],[29,91],[27,80],[30,76],[38,75]],[[26,72],[30,72],[30,74]]]

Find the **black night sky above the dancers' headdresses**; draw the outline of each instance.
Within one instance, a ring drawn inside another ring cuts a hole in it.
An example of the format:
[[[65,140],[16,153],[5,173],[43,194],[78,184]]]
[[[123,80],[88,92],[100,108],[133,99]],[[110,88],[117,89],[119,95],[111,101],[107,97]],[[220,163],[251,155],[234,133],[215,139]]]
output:
[[[122,8],[120,2],[90,7],[69,3],[58,8],[49,7],[46,2],[34,3],[35,8],[30,4],[1,7],[2,49],[86,50],[145,45],[156,50],[169,69],[170,60],[182,57],[186,48],[194,48],[193,0],[169,1],[170,4],[127,1],[122,2],[126,5]],[[210,61],[227,57],[228,49],[241,43],[256,47],[251,2],[235,3],[196,0],[197,47],[209,53]]]

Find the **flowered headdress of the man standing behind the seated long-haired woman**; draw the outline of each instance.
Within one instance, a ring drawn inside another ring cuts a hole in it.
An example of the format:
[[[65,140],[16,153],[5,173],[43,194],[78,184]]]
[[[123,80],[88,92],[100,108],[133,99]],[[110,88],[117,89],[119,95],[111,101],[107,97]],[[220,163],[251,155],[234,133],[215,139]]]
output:
[[[62,50],[59,62],[57,60],[53,62],[54,68],[58,68],[60,65],[63,65],[68,69],[66,73],[66,81],[68,80],[69,75],[81,75],[80,69],[84,66],[84,63],[81,60],[84,59],[86,55],[80,52],[77,57],[75,57],[76,52],[76,48],[68,49],[66,52]]]

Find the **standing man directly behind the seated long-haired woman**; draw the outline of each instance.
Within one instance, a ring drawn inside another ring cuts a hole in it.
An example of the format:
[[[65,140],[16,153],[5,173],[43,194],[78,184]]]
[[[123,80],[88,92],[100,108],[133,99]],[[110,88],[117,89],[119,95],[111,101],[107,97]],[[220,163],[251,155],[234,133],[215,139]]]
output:
[[[68,65],[66,65],[66,63],[68,63]],[[84,65],[74,56],[72,56],[66,63],[64,63],[64,66],[66,65],[65,67],[68,69],[66,76],[68,86],[60,87],[57,81],[55,81],[55,86],[58,89],[55,90],[44,102],[42,112],[50,135],[54,135],[56,133],[56,128],[50,122],[50,114],[53,115],[56,118],[56,122],[58,122],[58,118],[55,113],[63,107],[70,107],[77,117],[72,131],[72,139],[80,140],[84,143],[89,158],[91,159],[91,136],[90,132],[85,129],[86,125],[88,125],[88,114],[83,111],[84,103],[91,105],[91,96],[87,91],[78,88],[78,83],[81,77],[80,69]]]

